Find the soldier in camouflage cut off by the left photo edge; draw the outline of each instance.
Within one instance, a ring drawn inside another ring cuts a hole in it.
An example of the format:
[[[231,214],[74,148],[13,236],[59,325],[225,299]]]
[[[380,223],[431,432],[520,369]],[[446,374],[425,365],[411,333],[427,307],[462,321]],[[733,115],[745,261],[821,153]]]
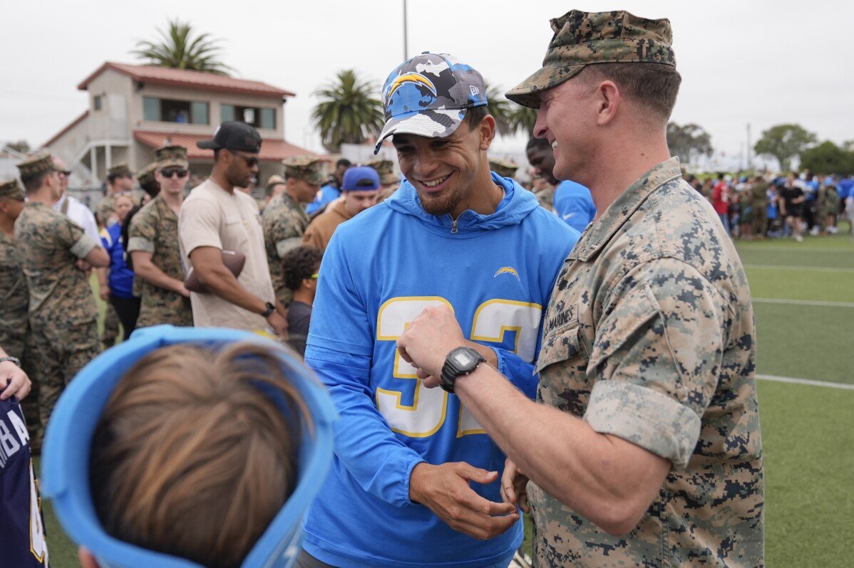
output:
[[[32,336],[27,307],[30,296],[26,278],[15,249],[15,219],[24,209],[24,188],[16,180],[0,183],[0,347],[20,360],[21,368],[32,380],[31,396],[21,401],[26,423],[30,426],[30,444],[41,447],[38,420],[38,378],[32,365]],[[5,387],[0,377],[0,390]]]

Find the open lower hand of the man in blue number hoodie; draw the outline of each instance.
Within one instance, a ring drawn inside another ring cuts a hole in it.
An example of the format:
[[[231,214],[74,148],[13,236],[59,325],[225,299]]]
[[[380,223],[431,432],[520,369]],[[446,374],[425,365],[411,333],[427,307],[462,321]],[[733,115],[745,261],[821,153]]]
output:
[[[518,521],[516,506],[477,495],[469,482],[490,484],[498,472],[487,472],[465,461],[431,466],[419,463],[409,479],[409,498],[436,513],[453,530],[474,538],[494,538]]]

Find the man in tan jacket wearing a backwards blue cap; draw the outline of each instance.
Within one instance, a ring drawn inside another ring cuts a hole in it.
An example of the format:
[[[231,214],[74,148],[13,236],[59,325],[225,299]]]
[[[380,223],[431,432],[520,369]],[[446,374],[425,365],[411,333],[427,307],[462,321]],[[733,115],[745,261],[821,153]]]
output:
[[[342,194],[308,225],[302,244],[326,250],[338,225],[352,219],[360,212],[377,205],[380,192],[379,175],[367,165],[358,165],[344,172]]]

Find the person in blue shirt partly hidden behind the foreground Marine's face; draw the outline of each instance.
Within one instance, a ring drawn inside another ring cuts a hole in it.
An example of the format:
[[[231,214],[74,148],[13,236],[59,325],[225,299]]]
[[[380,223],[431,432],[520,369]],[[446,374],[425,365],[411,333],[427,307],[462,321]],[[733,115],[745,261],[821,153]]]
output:
[[[590,190],[581,183],[568,179],[561,182],[554,177],[554,153],[547,140],[531,137],[525,151],[535,173],[546,177],[554,186],[554,214],[579,233],[583,233],[596,217],[596,206]]]

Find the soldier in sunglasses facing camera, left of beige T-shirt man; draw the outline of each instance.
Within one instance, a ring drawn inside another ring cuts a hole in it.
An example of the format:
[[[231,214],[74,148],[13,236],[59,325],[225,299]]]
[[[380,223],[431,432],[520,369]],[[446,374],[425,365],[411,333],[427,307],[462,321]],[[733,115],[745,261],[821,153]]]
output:
[[[133,293],[140,298],[137,327],[193,325],[178,250],[178,212],[184,203],[189,166],[183,146],[155,150],[153,175],[160,191],[133,216],[128,228],[126,249],[133,263]]]

